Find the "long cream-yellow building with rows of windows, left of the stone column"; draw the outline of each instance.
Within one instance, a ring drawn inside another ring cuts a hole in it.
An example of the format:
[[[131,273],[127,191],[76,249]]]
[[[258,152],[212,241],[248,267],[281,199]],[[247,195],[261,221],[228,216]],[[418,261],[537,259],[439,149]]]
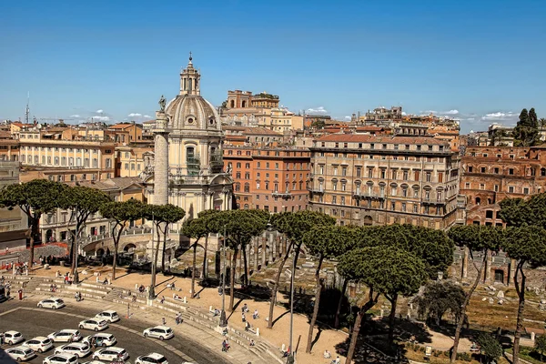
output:
[[[20,132],[19,145],[22,166],[50,179],[74,180],[72,175],[81,179],[115,176],[114,142],[54,139],[48,133],[25,131]],[[86,178],[82,178],[84,175]]]

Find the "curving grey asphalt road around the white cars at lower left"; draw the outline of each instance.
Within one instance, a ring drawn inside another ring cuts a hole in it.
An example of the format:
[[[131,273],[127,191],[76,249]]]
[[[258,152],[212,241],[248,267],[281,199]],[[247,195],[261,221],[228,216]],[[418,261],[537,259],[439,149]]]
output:
[[[25,309],[32,308],[32,309]],[[25,339],[32,339],[36,336],[47,336],[59,329],[78,329],[78,323],[83,319],[73,315],[81,315],[90,318],[96,315],[100,309],[91,310],[89,308],[80,308],[67,306],[57,310],[47,308],[36,308],[33,302],[20,302],[11,300],[0,303],[0,332],[15,330],[23,333]],[[121,314],[120,314],[121,316]],[[119,325],[119,327],[116,327]],[[157,339],[146,339],[142,336],[142,331],[150,327],[149,324],[137,319],[124,320],[110,325],[108,329],[102,332],[113,334],[116,339],[116,347],[124,348],[129,353],[127,361],[134,360],[144,354],[157,352],[164,355],[171,364],[190,361],[196,364],[224,364],[228,363],[226,359],[221,358],[217,353],[208,349],[200,348],[194,341],[185,339],[180,335],[166,341]],[[79,330],[83,337],[92,335],[95,332],[86,329]],[[136,331],[136,332],[134,332]],[[66,343],[54,344],[56,347]],[[9,346],[4,345],[6,349]],[[176,350],[174,350],[176,349]],[[54,349],[50,349],[43,354],[38,354],[30,363],[42,363],[42,360],[53,354]],[[189,357],[189,358],[188,358]],[[90,361],[91,355],[79,359],[80,363]]]

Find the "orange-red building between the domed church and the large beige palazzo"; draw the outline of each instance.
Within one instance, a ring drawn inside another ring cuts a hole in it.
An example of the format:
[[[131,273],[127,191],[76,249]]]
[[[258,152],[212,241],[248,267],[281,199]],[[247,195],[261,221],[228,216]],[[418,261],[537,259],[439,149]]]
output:
[[[295,147],[224,146],[238,208],[299,211],[308,205],[310,153]]]

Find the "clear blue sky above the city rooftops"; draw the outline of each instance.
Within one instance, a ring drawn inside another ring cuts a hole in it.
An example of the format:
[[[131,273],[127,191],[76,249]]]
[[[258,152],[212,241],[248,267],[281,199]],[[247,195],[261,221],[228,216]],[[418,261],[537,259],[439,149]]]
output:
[[[193,52],[214,105],[268,91],[343,119],[377,106],[461,128],[546,116],[546,1],[3,1],[0,119],[153,116]],[[132,116],[130,116],[132,115]]]

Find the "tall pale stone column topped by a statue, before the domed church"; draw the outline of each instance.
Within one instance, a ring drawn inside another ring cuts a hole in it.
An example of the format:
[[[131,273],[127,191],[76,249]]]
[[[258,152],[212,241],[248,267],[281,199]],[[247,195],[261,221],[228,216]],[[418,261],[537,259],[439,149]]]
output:
[[[168,203],[168,132],[167,116],[164,112],[156,113],[156,144],[154,160],[154,204]]]

